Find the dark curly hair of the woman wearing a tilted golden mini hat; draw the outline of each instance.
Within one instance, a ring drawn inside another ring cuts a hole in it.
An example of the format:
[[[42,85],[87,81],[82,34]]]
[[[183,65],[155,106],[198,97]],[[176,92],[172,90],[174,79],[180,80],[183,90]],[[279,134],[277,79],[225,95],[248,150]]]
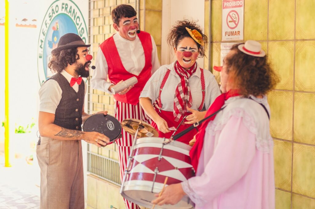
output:
[[[198,46],[199,57],[205,56],[204,49],[206,48],[206,45],[207,45],[207,42],[208,42],[208,38],[207,38],[206,35],[204,35],[202,33],[202,30],[201,30],[199,25],[197,25],[195,22],[190,22],[187,19],[185,19],[183,21],[176,21],[176,24],[170,30],[168,38],[167,38],[167,41],[169,42],[169,45],[177,48],[179,42],[183,38],[185,38],[185,37],[191,38],[191,36],[189,35],[188,31],[186,30],[186,27],[191,29],[191,30],[195,29],[202,35],[204,46],[201,46],[195,40],[194,41],[196,42],[196,44]],[[171,49],[171,51],[172,51],[172,49]]]

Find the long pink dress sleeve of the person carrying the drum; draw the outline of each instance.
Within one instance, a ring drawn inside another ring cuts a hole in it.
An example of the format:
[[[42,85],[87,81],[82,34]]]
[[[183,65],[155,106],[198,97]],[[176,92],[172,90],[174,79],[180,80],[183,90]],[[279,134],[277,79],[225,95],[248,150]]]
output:
[[[207,132],[205,140],[206,137]],[[244,125],[242,117],[231,116],[221,131],[213,156],[205,163],[203,174],[182,182],[183,190],[196,204],[211,201],[243,177],[255,151],[255,134]]]

